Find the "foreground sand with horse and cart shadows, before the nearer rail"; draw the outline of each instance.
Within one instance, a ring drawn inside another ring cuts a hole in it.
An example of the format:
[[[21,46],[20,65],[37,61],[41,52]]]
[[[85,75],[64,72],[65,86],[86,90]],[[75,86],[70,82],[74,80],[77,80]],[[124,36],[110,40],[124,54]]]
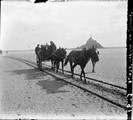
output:
[[[0,56],[2,118],[126,119],[122,108],[40,72]]]

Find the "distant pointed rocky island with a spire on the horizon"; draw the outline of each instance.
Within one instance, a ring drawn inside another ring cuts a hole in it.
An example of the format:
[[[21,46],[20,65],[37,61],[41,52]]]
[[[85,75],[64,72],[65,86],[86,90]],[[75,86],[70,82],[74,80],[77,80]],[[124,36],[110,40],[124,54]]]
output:
[[[92,48],[92,47],[97,47],[97,48],[103,48],[103,46],[98,43],[96,40],[94,40],[92,37],[90,37],[86,44],[81,45],[80,47],[77,47],[78,49],[83,49],[83,48]]]

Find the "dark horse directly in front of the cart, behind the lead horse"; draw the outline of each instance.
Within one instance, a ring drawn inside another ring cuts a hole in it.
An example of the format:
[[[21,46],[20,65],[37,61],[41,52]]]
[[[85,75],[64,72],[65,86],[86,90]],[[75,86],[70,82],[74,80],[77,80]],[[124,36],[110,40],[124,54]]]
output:
[[[53,59],[54,65],[56,67],[56,72],[58,72],[60,62],[62,63],[62,73],[64,73],[64,59],[66,58],[66,49],[58,48],[55,52],[55,57]],[[54,68],[55,68],[54,67]]]

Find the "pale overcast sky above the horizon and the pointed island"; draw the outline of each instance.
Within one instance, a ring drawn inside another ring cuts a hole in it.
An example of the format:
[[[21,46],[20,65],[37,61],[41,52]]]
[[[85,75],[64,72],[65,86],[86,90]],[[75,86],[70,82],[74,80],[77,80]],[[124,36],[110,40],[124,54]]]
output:
[[[104,47],[126,46],[127,2],[2,2],[1,7],[4,50],[34,49],[50,41],[74,48],[90,35]]]

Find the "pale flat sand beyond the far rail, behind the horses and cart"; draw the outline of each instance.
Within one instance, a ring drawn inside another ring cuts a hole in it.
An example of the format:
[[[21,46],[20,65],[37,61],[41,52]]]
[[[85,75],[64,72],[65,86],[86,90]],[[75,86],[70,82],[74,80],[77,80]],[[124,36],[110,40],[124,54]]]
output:
[[[68,50],[69,53],[71,50]],[[118,49],[99,49],[99,62],[96,63],[96,73],[91,73],[91,61],[85,67],[86,76],[123,86],[126,88],[126,48]],[[34,51],[9,52],[7,56],[14,56],[36,62]],[[47,64],[50,64],[46,62]],[[65,66],[70,70],[69,63]],[[75,72],[80,74],[80,67],[75,68]]]

